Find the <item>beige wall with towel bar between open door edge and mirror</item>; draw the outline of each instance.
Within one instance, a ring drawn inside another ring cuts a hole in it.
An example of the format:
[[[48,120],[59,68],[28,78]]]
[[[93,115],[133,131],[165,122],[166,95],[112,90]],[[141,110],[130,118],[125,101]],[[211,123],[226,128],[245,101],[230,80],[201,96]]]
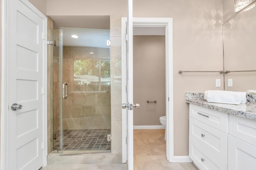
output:
[[[222,1],[134,2],[134,17],[173,18],[174,155],[188,155],[188,104],[185,92],[223,90],[219,73],[178,70],[222,70]],[[165,5],[162,5],[165,3]],[[222,86],[215,88],[215,79]]]

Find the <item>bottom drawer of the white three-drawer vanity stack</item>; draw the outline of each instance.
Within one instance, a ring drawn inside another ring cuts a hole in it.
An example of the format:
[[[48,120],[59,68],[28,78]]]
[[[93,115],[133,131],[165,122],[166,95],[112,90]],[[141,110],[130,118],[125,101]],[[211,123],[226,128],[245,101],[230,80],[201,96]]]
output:
[[[212,153],[205,153],[204,147],[191,139],[189,144],[189,157],[200,170],[226,170],[227,160],[225,162]],[[218,159],[218,160],[217,160]]]

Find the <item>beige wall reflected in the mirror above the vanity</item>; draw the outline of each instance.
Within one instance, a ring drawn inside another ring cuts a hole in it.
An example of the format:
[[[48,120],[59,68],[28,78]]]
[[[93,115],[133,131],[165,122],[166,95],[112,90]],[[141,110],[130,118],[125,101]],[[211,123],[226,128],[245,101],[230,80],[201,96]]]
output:
[[[231,1],[231,0],[229,0]],[[224,14],[234,13],[234,7],[225,6]],[[256,70],[256,8],[235,14],[224,23],[224,66],[225,70]],[[233,86],[228,87],[228,79],[233,80]],[[225,74],[225,90],[246,91],[256,90],[256,72],[231,72]]]

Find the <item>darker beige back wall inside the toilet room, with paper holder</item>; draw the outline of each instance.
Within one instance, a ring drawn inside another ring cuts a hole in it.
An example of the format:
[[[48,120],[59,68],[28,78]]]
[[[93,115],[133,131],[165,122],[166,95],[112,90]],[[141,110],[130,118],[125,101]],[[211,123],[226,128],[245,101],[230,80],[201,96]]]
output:
[[[165,36],[133,36],[134,125],[161,125],[165,115]],[[147,103],[146,101],[156,103]]]

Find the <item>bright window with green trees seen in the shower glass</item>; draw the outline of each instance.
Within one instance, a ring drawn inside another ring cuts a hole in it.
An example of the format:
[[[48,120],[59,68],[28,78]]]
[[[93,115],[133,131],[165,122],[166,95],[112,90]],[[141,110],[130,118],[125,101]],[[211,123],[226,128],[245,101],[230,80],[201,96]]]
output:
[[[74,92],[106,92],[110,90],[110,61],[74,60]]]

